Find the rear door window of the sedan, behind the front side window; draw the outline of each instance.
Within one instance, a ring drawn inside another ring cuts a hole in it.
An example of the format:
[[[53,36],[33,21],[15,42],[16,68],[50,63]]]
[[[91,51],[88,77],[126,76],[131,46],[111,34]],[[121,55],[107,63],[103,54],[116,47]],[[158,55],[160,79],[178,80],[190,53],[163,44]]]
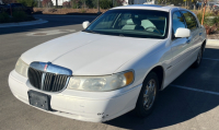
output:
[[[195,29],[198,27],[198,24],[197,24],[197,21],[195,19],[195,16],[188,12],[188,11],[182,11],[184,17],[185,17],[185,21],[186,21],[186,24],[187,24],[187,28],[189,29]]]

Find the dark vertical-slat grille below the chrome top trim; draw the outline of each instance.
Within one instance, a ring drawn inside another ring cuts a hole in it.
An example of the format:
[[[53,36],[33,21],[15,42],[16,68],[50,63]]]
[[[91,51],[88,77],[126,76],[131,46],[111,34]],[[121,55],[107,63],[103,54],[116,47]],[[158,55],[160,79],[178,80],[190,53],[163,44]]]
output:
[[[69,79],[69,75],[44,72],[31,67],[28,69],[30,83],[42,91],[59,92],[68,85]]]

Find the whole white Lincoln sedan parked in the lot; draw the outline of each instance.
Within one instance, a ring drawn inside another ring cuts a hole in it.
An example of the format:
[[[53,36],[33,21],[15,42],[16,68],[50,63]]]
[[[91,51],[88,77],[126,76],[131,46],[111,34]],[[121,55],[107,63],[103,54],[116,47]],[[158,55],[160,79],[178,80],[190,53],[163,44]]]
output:
[[[146,117],[159,91],[200,64],[206,45],[196,15],[176,7],[117,7],[83,27],[21,56],[9,75],[16,98],[77,120]]]

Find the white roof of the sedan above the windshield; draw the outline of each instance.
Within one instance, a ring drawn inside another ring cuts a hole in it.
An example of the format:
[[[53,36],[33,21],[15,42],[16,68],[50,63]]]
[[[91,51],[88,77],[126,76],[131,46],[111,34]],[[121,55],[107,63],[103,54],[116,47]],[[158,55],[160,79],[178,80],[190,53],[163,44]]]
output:
[[[140,10],[159,10],[159,11],[165,11],[169,12],[172,9],[180,9],[178,7],[171,7],[171,5],[155,5],[155,4],[131,4],[131,5],[123,5],[123,7],[116,7],[111,10],[116,9],[140,9]]]

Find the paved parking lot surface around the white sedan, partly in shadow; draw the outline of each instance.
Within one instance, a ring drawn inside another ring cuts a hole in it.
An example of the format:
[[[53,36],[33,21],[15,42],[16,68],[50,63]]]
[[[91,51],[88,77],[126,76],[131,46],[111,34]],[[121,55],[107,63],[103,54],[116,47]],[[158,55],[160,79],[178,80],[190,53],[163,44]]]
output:
[[[18,101],[8,85],[8,75],[20,55],[49,39],[78,32],[95,16],[36,15],[49,23],[0,28],[0,129],[1,130],[218,130],[219,46],[207,46],[201,66],[187,69],[160,92],[157,107],[145,119],[128,113],[104,123],[83,122],[41,111]],[[59,33],[54,33],[59,32]]]

